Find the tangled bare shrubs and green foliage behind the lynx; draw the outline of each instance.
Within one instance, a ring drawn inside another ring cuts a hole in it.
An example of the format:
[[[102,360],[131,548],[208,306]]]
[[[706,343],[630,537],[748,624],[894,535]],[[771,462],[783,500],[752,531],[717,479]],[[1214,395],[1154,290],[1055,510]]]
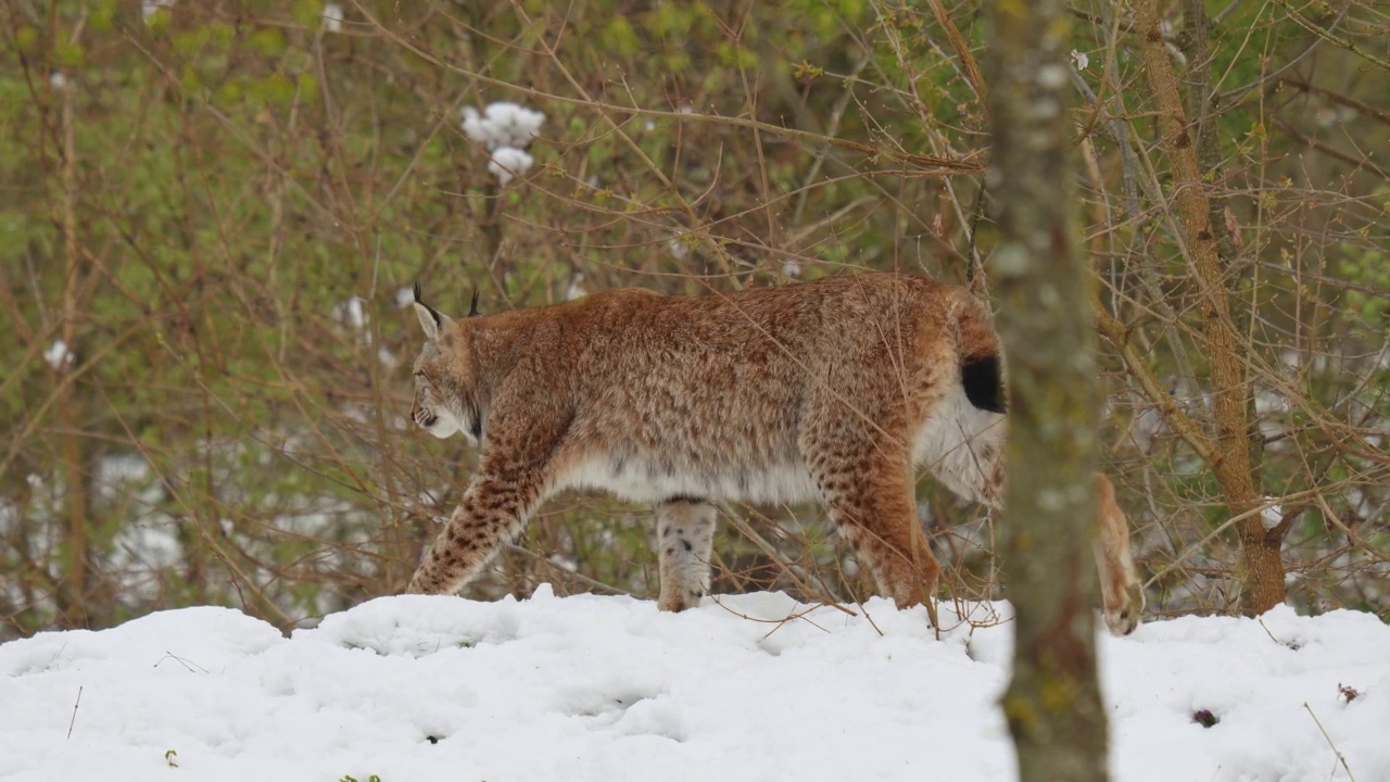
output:
[[[1077,306],[1150,614],[1390,618],[1384,8],[1069,22]],[[977,3],[6,0],[0,26],[0,640],[398,591],[475,459],[406,417],[414,281],[455,314],[852,269],[990,295]],[[495,102],[545,114],[525,154],[466,132]],[[919,506],[944,596],[1006,594],[984,509],[930,479]],[[716,593],[869,591],[816,509],[723,522]],[[553,501],[466,594],[541,582],[653,594],[649,509]]]

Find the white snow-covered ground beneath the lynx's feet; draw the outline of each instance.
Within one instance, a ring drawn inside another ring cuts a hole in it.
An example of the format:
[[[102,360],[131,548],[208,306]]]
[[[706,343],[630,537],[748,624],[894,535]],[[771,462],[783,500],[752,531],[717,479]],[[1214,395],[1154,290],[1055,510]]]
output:
[[[720,603],[542,587],[375,600],[288,639],[225,608],[46,633],[0,646],[0,778],[1013,778],[1009,625],[938,641],[880,600],[795,619],[780,594]],[[1120,781],[1390,779],[1375,616],[1152,622],[1105,636],[1102,664]]]

